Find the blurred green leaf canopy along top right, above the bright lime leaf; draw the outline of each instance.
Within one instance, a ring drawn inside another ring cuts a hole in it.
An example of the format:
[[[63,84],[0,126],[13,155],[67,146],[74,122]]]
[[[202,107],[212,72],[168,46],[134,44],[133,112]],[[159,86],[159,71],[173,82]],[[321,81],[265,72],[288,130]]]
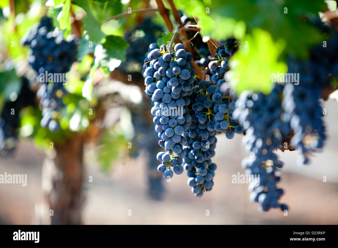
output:
[[[238,21],[244,21],[249,30],[259,27],[268,31],[274,40],[285,39],[285,53],[292,52],[298,57],[306,57],[308,48],[322,39],[320,31],[304,19],[318,16],[319,11],[327,9],[322,0],[311,1],[311,4],[307,0],[213,0],[212,4],[176,0],[175,4],[187,15],[199,19],[204,36],[240,38],[244,30]]]

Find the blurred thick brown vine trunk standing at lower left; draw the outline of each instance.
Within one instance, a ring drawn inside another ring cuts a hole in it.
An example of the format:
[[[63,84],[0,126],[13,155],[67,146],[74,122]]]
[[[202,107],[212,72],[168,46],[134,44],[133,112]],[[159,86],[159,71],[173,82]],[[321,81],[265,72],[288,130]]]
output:
[[[82,224],[83,138],[79,134],[54,144],[56,155],[43,164],[43,190],[52,225]]]

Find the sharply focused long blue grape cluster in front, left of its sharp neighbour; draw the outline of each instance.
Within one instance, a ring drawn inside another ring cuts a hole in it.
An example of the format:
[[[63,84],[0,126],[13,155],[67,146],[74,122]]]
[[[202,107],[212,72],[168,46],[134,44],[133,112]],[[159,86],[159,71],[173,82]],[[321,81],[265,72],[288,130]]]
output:
[[[167,52],[165,45],[160,49],[156,43],[150,44],[149,50],[144,61],[145,92],[154,103],[151,113],[160,138],[159,145],[166,150],[157,155],[157,159],[162,161],[158,171],[163,172],[165,178],[171,178],[174,172],[182,174],[184,170],[182,158],[186,154],[183,145],[187,140],[182,134],[188,130],[192,121],[188,113],[190,100],[187,96],[193,93],[197,80],[189,64],[192,54],[187,53],[182,44],[175,45],[175,52]]]

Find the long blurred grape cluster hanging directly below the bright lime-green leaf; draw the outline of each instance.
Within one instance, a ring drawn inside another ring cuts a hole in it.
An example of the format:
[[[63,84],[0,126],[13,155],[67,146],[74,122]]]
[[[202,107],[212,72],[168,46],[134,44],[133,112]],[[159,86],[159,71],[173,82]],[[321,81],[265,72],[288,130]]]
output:
[[[280,177],[275,172],[283,163],[273,152],[291,133],[289,122],[284,121],[286,114],[281,107],[282,92],[283,85],[280,84],[275,84],[268,95],[243,92],[233,113],[246,128],[243,143],[250,157],[242,161],[242,167],[246,169],[246,174],[252,175],[251,178],[254,175],[258,178],[250,183],[250,199],[259,202],[263,211],[278,207],[287,210],[285,204],[278,202],[283,190],[276,186]]]

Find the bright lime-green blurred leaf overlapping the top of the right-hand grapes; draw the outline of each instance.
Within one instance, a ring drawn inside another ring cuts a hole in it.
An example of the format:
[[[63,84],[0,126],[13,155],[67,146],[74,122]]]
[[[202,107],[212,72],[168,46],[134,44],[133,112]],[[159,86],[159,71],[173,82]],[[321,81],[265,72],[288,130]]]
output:
[[[271,35],[262,29],[252,30],[247,34],[239,50],[231,58],[231,70],[226,77],[239,94],[244,90],[261,91],[268,94],[274,85],[273,73],[287,72],[287,65],[278,58],[285,48],[285,42],[273,42]]]

